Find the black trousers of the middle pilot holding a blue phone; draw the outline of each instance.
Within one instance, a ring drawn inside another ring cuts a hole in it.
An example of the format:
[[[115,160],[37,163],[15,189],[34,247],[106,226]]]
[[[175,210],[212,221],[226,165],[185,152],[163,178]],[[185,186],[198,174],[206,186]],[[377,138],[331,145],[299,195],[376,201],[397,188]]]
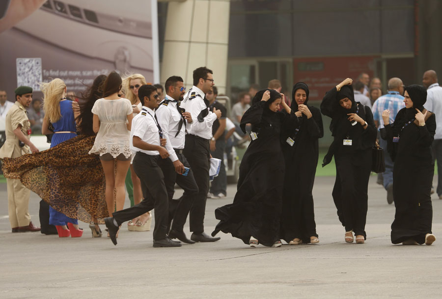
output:
[[[186,223],[187,216],[192,208],[193,201],[198,193],[198,186],[196,185],[193,177],[193,170],[187,161],[186,157],[179,152],[176,153],[178,160],[183,163],[184,166],[190,168],[187,176],[177,174],[172,161],[169,158],[160,158],[160,167],[163,170],[164,182],[166,184],[167,195],[169,199],[169,221],[173,218],[173,224],[171,229],[177,231],[183,231],[184,224]],[[178,184],[183,190],[183,196],[180,200],[173,200],[173,193],[175,192],[175,183]],[[178,202],[178,203],[176,203]]]

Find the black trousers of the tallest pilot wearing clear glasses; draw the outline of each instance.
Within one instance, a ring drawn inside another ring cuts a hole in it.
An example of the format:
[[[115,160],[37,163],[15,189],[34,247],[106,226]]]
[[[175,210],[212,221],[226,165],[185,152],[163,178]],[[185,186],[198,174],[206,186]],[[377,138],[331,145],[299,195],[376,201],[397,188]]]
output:
[[[193,170],[193,177],[198,186],[190,211],[189,224],[191,232],[204,232],[204,214],[206,211],[207,192],[209,191],[209,140],[194,135],[186,135],[184,146],[186,156]]]

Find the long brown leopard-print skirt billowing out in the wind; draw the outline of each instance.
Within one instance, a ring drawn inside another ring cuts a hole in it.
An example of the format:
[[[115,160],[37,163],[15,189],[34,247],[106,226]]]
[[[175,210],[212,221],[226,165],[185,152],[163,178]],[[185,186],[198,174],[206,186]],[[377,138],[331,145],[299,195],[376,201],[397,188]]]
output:
[[[6,178],[20,179],[51,207],[64,215],[89,223],[109,217],[105,176],[100,159],[88,152],[95,136],[77,136],[55,147],[19,158],[5,158]]]

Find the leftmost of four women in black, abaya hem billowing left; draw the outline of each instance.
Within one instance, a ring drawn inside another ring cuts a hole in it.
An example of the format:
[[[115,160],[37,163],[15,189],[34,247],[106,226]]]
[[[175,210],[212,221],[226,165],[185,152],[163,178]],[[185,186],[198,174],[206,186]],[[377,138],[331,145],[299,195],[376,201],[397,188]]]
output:
[[[288,113],[278,112],[282,105]],[[238,191],[232,204],[215,210],[219,231],[231,233],[245,244],[279,247],[284,159],[279,142],[281,128],[296,117],[275,90],[259,91],[241,118],[241,130],[251,124],[251,142],[240,165]]]

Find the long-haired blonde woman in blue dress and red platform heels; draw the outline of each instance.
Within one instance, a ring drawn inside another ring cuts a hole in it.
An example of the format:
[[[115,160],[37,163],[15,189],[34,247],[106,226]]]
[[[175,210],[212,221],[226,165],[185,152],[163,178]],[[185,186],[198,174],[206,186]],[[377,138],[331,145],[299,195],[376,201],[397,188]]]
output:
[[[54,133],[51,140],[52,148],[77,136],[75,117],[79,111],[78,104],[66,99],[66,84],[61,79],[57,78],[49,83],[41,83],[40,89],[44,95],[43,110],[45,112],[41,133],[43,135]],[[54,132],[49,129],[50,124],[54,127]],[[55,172],[54,175],[60,174]],[[55,180],[56,182],[57,180]],[[49,207],[49,224],[55,225],[60,238],[83,235],[83,230],[78,228],[77,219],[55,211],[52,206]]]

